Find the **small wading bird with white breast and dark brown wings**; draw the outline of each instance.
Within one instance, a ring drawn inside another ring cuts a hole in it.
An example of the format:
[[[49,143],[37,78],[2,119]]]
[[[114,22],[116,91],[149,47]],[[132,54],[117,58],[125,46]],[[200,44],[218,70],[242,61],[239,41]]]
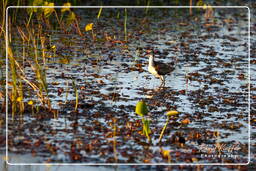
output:
[[[148,62],[148,71],[153,74],[155,77],[160,78],[162,85],[165,85],[165,75],[171,73],[175,69],[175,64],[170,63],[170,64],[165,64],[162,62],[157,62],[154,60],[154,55],[153,54],[148,54],[149,56],[149,62]]]

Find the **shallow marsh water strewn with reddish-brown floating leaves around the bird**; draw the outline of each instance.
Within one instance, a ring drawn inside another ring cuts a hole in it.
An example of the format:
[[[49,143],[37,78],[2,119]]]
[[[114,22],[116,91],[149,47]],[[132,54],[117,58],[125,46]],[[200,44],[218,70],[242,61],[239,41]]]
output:
[[[124,9],[103,9],[99,19],[99,9],[73,9],[82,35],[42,26],[49,48],[39,61],[54,114],[21,81],[24,102],[34,106],[10,116],[8,149],[31,160],[11,162],[247,163],[248,85],[255,77],[249,75],[247,9],[206,10],[127,9],[127,34]],[[93,32],[84,31],[89,23]],[[31,47],[15,29],[14,57],[36,82]],[[164,87],[147,70],[147,49],[156,61],[176,62]],[[135,113],[140,100],[149,109],[151,142]],[[170,110],[179,115],[159,143]]]

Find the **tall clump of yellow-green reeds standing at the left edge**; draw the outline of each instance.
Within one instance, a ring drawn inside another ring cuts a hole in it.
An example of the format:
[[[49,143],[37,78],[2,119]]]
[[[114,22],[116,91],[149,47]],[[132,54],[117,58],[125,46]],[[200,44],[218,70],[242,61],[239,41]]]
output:
[[[5,8],[9,1],[3,1],[3,11],[5,12]],[[41,104],[49,109],[51,111],[51,102],[48,97],[48,84],[46,81],[46,63],[47,63],[47,57],[53,57],[56,56],[56,46],[52,45],[51,43],[51,35],[46,36],[43,33],[42,25],[38,25],[38,28],[35,28],[35,23],[31,23],[32,18],[36,17],[38,21],[43,22],[46,26],[50,26],[50,20],[52,20],[52,15],[55,15],[55,19],[57,20],[57,24],[59,24],[60,28],[62,28],[65,31],[64,24],[64,13],[69,12],[68,16],[65,18],[65,21],[69,20],[70,22],[73,22],[74,25],[77,28],[77,32],[81,35],[80,28],[78,26],[78,20],[76,18],[76,15],[70,10],[71,3],[64,3],[63,8],[61,9],[61,20],[59,19],[58,13],[56,12],[54,8],[53,2],[43,1],[43,0],[34,0],[31,1],[31,5],[33,6],[47,6],[46,8],[28,8],[28,16],[27,20],[24,23],[24,26],[26,30],[22,30],[21,26],[17,26],[18,33],[22,39],[22,64],[18,60],[18,58],[13,54],[13,51],[15,51],[15,47],[11,47],[12,44],[9,44],[8,49],[8,58],[9,58],[9,64],[10,64],[10,76],[11,81],[9,82],[10,87],[12,88],[11,93],[9,93],[10,96],[10,102],[12,106],[12,118],[14,118],[15,113],[19,112],[22,114],[24,112],[24,91],[27,89],[23,88],[25,84],[29,85],[34,92],[37,94],[38,100],[41,102]],[[48,8],[49,7],[49,8]],[[14,13],[17,12],[16,9],[10,10],[9,15],[10,17],[14,17]],[[1,34],[4,32],[3,26],[5,25],[5,18],[3,17],[3,25],[1,27]],[[9,19],[10,20],[10,19]],[[55,21],[56,21],[55,20]],[[16,20],[11,19],[11,23],[9,24],[9,27],[12,27],[12,25],[15,23]],[[3,34],[5,36],[5,34]],[[9,37],[11,38],[12,35],[9,34]],[[6,37],[5,37],[6,39]],[[49,40],[49,41],[48,41]],[[11,42],[11,40],[8,40]],[[50,46],[50,49],[48,48]],[[29,48],[28,48],[29,47]],[[14,49],[14,50],[13,50]],[[32,60],[27,60],[27,54],[31,54]],[[17,59],[16,59],[17,58]],[[36,82],[31,81],[28,76],[25,73],[24,64],[25,60],[28,61],[28,64],[30,65],[31,69],[34,71],[36,76]],[[43,62],[43,65],[41,65],[41,62]],[[2,68],[3,65],[1,65]],[[29,95],[33,95],[30,94]]]

